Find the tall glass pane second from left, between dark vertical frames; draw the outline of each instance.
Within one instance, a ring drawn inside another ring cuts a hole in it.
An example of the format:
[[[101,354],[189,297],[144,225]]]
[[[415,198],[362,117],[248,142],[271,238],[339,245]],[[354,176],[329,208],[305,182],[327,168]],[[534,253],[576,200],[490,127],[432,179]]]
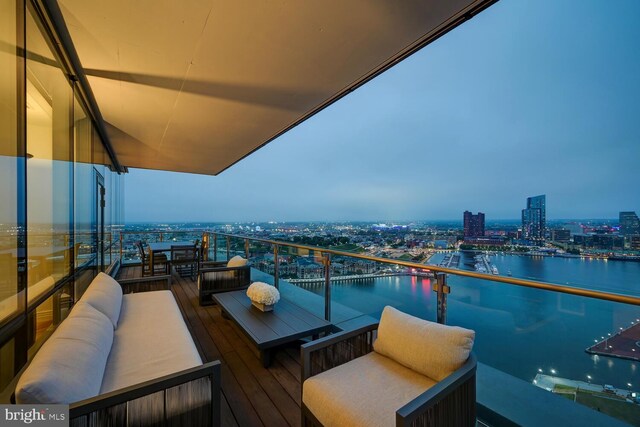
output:
[[[27,15],[27,230],[29,304],[70,274],[72,88]]]

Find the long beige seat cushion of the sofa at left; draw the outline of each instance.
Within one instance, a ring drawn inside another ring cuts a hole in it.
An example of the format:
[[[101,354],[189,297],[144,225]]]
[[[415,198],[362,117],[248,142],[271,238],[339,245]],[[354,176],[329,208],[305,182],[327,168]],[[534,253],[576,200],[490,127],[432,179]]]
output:
[[[102,393],[193,368],[202,359],[171,291],[127,294]]]

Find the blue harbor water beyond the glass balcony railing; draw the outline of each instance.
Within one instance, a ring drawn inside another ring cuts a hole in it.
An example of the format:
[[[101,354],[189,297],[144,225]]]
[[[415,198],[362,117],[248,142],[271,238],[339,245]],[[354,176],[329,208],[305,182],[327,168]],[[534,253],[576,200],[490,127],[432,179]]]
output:
[[[473,270],[473,253],[459,267]],[[443,254],[430,261],[437,264]],[[640,263],[581,258],[489,255],[501,275],[640,295]],[[385,305],[435,320],[433,279],[396,276],[332,285],[332,301],[379,317]],[[638,362],[590,355],[594,340],[640,319],[640,307],[450,275],[447,324],[476,331],[482,363],[526,381],[536,374],[640,388]],[[322,286],[307,287],[322,294]],[[640,351],[640,347],[638,348]]]

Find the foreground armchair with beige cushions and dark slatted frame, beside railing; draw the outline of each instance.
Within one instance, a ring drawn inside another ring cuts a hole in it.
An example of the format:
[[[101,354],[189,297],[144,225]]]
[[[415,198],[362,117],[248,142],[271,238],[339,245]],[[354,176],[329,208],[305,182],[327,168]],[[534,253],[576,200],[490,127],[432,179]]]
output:
[[[379,324],[303,345],[302,425],[475,426],[474,338],[385,307]]]

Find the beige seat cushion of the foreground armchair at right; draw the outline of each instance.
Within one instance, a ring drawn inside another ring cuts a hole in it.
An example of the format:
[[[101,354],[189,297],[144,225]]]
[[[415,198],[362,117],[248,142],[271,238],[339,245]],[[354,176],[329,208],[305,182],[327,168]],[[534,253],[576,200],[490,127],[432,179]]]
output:
[[[435,383],[371,352],[306,380],[302,401],[325,427],[394,426],[396,411]]]

